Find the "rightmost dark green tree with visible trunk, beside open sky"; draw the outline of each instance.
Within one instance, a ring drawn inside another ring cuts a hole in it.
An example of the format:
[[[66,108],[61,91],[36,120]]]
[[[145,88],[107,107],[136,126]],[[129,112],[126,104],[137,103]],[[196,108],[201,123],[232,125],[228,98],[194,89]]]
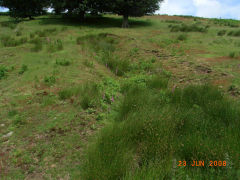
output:
[[[129,27],[129,16],[138,17],[153,14],[163,0],[98,0],[98,6],[105,12],[123,16],[123,28]]]

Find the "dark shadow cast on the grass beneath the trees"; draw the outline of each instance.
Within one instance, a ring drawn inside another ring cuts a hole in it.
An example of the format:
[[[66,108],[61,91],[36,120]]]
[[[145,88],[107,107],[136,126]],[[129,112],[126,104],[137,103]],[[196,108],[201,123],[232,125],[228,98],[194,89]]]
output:
[[[63,26],[87,26],[92,28],[112,28],[121,27],[122,18],[119,17],[101,17],[101,16],[88,16],[84,21],[76,18],[60,18],[57,16],[48,16],[47,18],[39,18],[41,25],[63,25]],[[147,20],[129,20],[131,28],[140,28],[151,26],[151,22]]]

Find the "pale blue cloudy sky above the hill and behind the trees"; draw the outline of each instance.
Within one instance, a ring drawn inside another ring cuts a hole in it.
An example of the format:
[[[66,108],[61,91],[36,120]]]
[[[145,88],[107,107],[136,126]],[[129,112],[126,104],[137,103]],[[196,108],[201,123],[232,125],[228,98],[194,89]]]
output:
[[[240,20],[240,0],[164,0],[156,13]]]

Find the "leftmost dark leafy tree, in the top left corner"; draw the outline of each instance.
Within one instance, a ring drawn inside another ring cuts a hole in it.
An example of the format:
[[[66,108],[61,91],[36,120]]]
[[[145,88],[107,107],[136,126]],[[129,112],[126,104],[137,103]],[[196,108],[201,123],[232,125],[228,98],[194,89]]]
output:
[[[0,0],[0,5],[9,9],[14,18],[30,18],[41,15],[48,6],[47,0]]]

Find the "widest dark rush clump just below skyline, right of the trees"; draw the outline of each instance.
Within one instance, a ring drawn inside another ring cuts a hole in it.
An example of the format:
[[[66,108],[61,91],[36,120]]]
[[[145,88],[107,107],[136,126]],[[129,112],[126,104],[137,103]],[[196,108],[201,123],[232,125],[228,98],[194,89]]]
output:
[[[208,31],[208,27],[201,27],[196,24],[193,25],[170,25],[171,32],[202,32],[206,33]]]

